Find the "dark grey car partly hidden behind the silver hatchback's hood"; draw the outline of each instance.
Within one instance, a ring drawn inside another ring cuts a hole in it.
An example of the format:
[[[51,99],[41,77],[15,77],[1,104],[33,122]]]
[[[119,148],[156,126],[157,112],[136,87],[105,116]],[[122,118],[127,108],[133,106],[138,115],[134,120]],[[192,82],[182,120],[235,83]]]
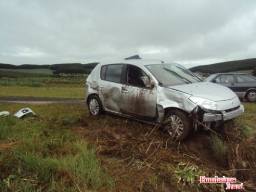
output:
[[[240,99],[245,98],[248,102],[256,101],[256,78],[251,75],[244,73],[217,73],[212,74],[205,80],[228,87]]]

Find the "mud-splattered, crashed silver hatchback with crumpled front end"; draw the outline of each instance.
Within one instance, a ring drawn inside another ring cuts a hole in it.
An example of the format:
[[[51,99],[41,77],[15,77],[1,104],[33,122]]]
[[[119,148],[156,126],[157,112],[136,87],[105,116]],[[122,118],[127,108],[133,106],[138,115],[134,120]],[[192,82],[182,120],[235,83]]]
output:
[[[207,129],[243,114],[230,89],[203,82],[175,62],[141,59],[99,63],[86,82],[91,115],[113,113],[158,124],[183,141],[197,126]]]

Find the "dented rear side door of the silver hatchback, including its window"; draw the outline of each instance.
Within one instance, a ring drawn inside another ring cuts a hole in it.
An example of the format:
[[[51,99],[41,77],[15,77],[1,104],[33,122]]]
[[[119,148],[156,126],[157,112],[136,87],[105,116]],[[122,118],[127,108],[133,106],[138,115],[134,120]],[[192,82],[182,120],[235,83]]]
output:
[[[99,97],[105,111],[120,113],[123,64],[104,65],[100,69]]]

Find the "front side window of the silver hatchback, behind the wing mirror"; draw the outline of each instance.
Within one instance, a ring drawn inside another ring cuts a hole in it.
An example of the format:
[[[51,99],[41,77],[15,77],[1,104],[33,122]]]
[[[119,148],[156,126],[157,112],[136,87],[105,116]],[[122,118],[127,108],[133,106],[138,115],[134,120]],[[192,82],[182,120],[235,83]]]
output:
[[[150,88],[150,78],[136,66],[128,66],[126,82],[132,86]]]

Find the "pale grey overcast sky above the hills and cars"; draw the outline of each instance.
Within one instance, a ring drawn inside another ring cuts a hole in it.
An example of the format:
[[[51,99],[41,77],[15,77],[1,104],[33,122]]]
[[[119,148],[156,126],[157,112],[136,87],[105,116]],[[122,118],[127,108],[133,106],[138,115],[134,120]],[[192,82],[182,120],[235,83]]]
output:
[[[0,63],[256,57],[254,0],[0,0]]]

